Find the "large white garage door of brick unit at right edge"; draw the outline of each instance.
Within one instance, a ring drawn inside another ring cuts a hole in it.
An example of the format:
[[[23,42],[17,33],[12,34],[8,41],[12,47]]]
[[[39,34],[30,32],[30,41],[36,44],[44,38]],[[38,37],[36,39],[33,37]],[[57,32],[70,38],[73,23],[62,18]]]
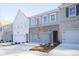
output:
[[[79,30],[65,31],[62,43],[79,43]]]

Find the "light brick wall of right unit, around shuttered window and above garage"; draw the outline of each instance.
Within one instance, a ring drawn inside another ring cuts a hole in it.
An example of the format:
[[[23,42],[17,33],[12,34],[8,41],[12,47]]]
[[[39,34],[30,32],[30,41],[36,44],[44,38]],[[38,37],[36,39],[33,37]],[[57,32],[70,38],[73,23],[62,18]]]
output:
[[[79,15],[66,17],[66,8],[75,6],[76,4],[64,4],[60,7],[60,39],[63,41],[63,33],[65,31],[79,30]]]

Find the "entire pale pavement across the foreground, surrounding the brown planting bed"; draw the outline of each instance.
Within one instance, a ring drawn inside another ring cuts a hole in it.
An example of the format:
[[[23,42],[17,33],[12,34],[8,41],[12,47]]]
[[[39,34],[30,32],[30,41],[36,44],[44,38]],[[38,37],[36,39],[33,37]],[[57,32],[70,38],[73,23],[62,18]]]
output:
[[[26,43],[11,46],[0,46],[0,56],[79,56],[79,44],[60,44],[49,53],[29,51],[39,44]]]

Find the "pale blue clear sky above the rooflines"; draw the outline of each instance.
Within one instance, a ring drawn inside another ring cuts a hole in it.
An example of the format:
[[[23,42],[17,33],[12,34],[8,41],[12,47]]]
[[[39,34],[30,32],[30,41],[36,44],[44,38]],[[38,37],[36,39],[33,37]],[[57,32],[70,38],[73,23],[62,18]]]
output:
[[[0,3],[0,20],[13,22],[19,9],[30,15],[56,9],[60,3]]]

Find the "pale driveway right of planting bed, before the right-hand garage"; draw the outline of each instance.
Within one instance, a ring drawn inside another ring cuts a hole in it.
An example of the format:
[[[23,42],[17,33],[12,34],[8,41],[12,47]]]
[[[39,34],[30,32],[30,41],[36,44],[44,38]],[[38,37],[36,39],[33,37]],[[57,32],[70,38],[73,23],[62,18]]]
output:
[[[49,52],[50,56],[79,56],[79,44],[60,44]]]

